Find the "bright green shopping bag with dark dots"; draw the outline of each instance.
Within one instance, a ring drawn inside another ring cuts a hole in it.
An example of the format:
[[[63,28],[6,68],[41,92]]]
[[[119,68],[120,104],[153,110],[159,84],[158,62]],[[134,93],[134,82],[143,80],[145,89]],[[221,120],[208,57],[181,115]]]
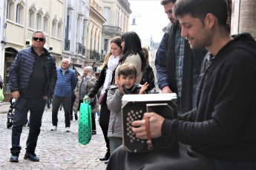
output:
[[[91,106],[90,101],[83,101],[79,111],[79,143],[86,145],[91,140]]]

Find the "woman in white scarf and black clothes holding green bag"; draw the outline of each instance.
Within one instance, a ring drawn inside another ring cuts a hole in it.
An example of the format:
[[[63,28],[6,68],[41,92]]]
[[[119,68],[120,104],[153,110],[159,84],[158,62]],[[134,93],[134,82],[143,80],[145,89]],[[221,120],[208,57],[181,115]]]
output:
[[[105,56],[105,61],[102,66],[102,71],[100,72],[99,78],[97,79],[96,83],[94,84],[93,88],[90,90],[88,95],[84,98],[91,99],[94,95],[97,94],[99,88],[103,86],[101,94],[105,93],[105,90],[108,89],[108,86],[113,84],[114,82],[114,70],[116,69],[117,65],[119,64],[119,58],[122,53],[121,47],[121,38],[119,36],[114,37],[111,40],[111,50]],[[107,153],[105,157],[99,158],[99,160],[108,160],[110,157],[110,149],[109,149],[109,140],[108,140],[108,123],[109,123],[109,116],[111,112],[108,109],[106,98],[101,103],[100,109],[100,116],[99,116],[99,125],[102,128],[102,132],[105,138],[105,143],[107,146]]]

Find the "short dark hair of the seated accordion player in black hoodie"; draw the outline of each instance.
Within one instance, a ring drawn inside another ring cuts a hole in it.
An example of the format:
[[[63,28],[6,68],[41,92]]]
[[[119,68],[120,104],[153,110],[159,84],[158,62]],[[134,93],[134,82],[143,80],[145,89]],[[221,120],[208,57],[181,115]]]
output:
[[[228,18],[228,4],[226,0],[177,0],[174,4],[174,17],[191,15],[201,21],[207,13],[216,16],[218,23],[226,27]]]

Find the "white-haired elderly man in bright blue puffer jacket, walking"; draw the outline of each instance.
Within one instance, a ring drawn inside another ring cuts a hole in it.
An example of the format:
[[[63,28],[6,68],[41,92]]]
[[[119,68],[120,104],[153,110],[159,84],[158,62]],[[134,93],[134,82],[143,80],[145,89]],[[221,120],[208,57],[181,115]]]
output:
[[[57,130],[59,106],[62,103],[65,112],[65,131],[70,132],[70,107],[71,95],[76,87],[76,73],[68,68],[70,61],[67,58],[62,60],[62,67],[57,69],[57,82],[53,95],[51,131]]]

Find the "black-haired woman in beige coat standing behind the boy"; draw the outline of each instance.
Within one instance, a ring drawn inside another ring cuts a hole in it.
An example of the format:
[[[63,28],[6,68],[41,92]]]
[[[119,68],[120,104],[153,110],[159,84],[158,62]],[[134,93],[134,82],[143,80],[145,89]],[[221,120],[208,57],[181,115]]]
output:
[[[124,63],[133,64],[137,69],[137,81],[135,83],[140,84],[145,69],[145,57],[142,51],[140,37],[137,33],[131,31],[124,33],[121,36],[121,39],[122,58],[119,60],[119,66]],[[116,67],[115,80],[117,78],[119,66]]]

